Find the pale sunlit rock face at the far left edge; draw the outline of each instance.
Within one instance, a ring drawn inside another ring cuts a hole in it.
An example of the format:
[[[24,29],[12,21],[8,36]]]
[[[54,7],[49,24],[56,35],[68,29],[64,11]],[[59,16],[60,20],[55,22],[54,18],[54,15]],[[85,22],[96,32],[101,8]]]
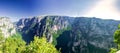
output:
[[[0,33],[4,35],[4,37],[8,37],[16,33],[15,27],[9,18],[1,17],[0,18]]]

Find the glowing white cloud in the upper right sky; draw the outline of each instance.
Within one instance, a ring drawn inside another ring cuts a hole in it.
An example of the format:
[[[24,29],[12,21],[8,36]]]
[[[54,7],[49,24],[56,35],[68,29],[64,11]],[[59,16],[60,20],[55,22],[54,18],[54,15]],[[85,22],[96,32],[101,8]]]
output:
[[[115,7],[116,0],[100,0],[84,16],[120,20],[120,12]]]

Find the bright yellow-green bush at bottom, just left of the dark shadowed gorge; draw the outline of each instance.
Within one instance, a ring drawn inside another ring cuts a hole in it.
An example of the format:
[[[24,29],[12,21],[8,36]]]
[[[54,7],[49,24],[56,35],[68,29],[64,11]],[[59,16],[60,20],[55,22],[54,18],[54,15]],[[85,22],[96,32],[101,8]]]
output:
[[[26,48],[26,53],[59,53],[55,46],[48,43],[46,38],[34,37],[32,41]]]

